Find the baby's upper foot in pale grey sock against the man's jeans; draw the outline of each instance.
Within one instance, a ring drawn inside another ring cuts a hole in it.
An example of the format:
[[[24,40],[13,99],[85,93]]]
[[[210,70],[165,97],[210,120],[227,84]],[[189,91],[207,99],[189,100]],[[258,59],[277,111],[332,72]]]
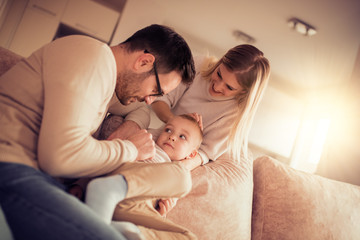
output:
[[[127,188],[125,178],[119,174],[95,178],[87,186],[85,203],[110,224],[115,207],[125,198]]]

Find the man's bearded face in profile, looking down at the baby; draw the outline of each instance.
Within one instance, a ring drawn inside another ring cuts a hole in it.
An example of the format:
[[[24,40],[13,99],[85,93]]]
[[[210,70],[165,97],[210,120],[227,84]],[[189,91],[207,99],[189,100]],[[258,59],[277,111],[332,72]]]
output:
[[[167,94],[179,85],[181,76],[175,71],[159,74],[159,82],[162,91],[164,94]],[[149,72],[135,73],[131,70],[126,70],[119,74],[115,92],[123,105],[129,105],[135,101],[145,101],[146,104],[151,104],[157,97],[150,95],[158,94],[156,77]]]

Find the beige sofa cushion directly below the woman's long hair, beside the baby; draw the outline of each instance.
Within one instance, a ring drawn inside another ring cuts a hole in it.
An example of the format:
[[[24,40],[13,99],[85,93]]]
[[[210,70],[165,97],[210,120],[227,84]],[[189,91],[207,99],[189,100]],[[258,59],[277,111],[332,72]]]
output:
[[[192,191],[168,218],[203,240],[250,239],[252,160],[217,160],[192,172]]]

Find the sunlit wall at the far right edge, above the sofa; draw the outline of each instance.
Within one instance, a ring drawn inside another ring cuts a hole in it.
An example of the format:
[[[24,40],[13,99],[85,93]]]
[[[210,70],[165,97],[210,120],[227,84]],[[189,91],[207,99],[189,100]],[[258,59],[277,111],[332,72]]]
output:
[[[317,174],[360,185],[360,46],[351,80],[337,96]]]

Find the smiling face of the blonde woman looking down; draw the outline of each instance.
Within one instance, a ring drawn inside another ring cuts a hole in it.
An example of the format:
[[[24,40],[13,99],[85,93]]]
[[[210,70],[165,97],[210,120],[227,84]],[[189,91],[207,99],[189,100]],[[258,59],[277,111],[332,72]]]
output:
[[[220,64],[211,75],[209,93],[213,97],[234,97],[243,91],[234,73]]]

